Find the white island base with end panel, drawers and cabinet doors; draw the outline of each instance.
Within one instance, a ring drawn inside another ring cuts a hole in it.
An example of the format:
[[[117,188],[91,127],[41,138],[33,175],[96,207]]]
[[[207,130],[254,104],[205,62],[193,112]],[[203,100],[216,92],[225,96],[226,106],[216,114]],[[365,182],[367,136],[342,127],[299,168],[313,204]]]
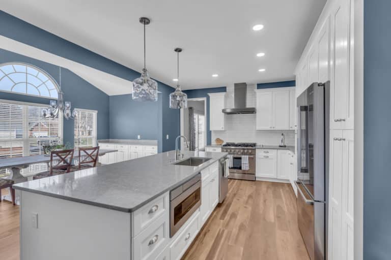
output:
[[[20,259],[180,259],[218,202],[218,163],[201,175],[202,205],[172,238],[169,191],[123,212],[21,190]]]

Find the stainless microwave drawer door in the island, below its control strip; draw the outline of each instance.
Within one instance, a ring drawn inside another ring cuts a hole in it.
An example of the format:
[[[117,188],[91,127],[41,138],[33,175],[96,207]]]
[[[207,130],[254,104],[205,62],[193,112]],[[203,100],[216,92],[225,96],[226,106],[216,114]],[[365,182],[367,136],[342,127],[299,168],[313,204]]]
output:
[[[182,192],[170,202],[170,237],[201,206],[201,181]]]

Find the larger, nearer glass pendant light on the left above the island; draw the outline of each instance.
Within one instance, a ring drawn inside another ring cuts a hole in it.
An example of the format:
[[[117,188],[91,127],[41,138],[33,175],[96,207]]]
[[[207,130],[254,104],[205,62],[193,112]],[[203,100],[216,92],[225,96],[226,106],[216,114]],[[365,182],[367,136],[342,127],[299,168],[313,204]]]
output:
[[[150,78],[145,67],[145,25],[150,24],[151,20],[141,17],[139,22],[144,24],[144,69],[141,77],[133,81],[132,98],[134,101],[157,101],[157,82]]]

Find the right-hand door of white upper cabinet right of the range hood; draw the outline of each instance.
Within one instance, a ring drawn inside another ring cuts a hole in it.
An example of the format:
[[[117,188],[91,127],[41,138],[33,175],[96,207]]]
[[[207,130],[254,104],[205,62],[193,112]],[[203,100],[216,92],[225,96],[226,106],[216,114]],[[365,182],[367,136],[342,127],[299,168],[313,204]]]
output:
[[[273,91],[273,112],[273,129],[289,129],[289,90]]]

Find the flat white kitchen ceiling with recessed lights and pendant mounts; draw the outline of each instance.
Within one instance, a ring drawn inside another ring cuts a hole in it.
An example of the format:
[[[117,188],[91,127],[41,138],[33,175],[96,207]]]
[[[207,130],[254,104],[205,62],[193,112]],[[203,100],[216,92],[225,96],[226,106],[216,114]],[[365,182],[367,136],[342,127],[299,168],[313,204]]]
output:
[[[174,86],[175,47],[184,89],[294,79],[326,0],[2,0],[1,9],[136,71]],[[265,27],[253,31],[252,26]],[[264,57],[256,53],[264,52]],[[258,72],[264,68],[265,72]],[[212,74],[219,77],[213,78]]]

